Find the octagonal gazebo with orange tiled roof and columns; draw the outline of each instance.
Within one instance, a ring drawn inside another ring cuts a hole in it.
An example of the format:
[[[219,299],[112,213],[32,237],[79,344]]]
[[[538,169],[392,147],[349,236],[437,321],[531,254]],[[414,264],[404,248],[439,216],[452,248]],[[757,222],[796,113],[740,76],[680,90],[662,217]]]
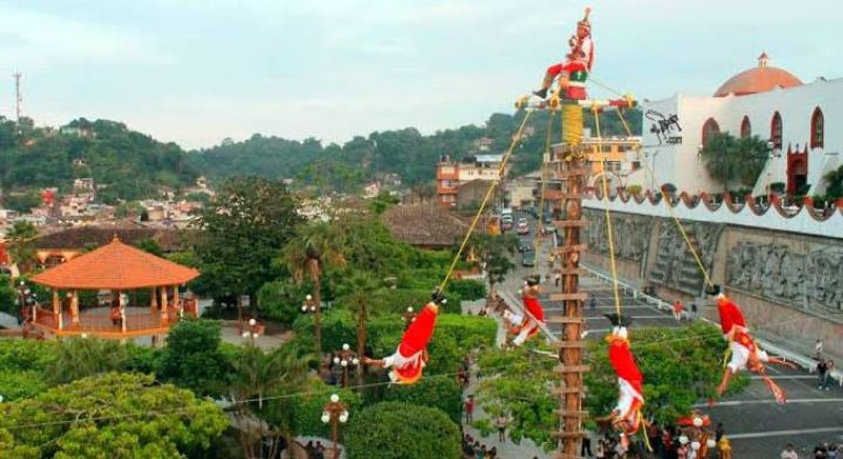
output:
[[[51,310],[35,307],[32,325],[56,336],[132,338],[164,334],[180,316],[196,316],[196,300],[182,300],[179,286],[197,276],[196,269],[123,244],[115,236],[105,246],[32,278],[35,284],[52,289]],[[98,296],[97,304],[83,314],[79,313],[80,290],[94,291]],[[130,305],[126,292],[144,290],[149,304]],[[110,301],[99,298],[104,293]],[[97,307],[104,302],[110,303],[110,309]]]

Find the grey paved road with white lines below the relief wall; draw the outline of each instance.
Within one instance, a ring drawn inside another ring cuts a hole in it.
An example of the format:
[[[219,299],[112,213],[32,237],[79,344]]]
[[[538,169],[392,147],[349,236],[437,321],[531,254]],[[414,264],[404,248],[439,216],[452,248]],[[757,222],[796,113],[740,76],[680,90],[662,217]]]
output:
[[[545,244],[545,250],[537,257],[543,275],[547,271],[549,246]],[[519,267],[500,289],[517,294],[522,278],[529,273],[532,273],[530,268]],[[597,298],[595,310],[585,308],[587,339],[602,339],[610,327],[609,321],[602,315],[615,311],[611,286],[592,276],[584,276],[580,284],[583,291],[592,292]],[[555,289],[552,284],[546,285],[546,290]],[[545,300],[543,303],[545,311],[550,314],[561,311],[561,302]],[[621,306],[623,311],[635,318],[635,327],[684,325],[675,321],[669,311],[659,311],[655,306],[633,298],[631,293],[624,294],[622,290]],[[764,381],[758,377],[753,378],[746,391],[723,399],[713,408],[707,408],[704,403],[701,405],[701,409],[710,413],[715,422],[724,424],[727,436],[732,440],[734,457],[778,457],[787,443],[797,447],[800,457],[808,457],[819,441],[843,443],[843,390],[835,386],[830,391],[819,391],[817,376],[804,370],[788,370],[773,365],[768,368],[769,374],[787,392],[789,402],[786,405],[776,404]]]

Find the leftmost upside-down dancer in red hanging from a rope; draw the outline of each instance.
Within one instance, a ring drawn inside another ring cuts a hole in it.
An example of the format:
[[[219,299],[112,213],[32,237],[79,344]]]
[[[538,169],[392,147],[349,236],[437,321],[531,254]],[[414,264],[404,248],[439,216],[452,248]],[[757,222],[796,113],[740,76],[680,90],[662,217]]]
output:
[[[436,327],[439,305],[444,303],[445,296],[438,290],[433,292],[430,302],[424,305],[416,320],[407,327],[395,354],[380,360],[363,357],[363,364],[391,368],[389,379],[396,384],[413,384],[419,381],[421,370],[430,358],[427,354],[427,343],[430,342],[433,328]]]

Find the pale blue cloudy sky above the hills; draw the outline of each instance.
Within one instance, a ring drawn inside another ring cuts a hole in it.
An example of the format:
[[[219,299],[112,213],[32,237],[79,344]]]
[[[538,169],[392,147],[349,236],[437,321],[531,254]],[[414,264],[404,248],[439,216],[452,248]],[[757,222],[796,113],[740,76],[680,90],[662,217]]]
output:
[[[586,4],[0,1],[0,115],[20,71],[38,125],[105,118],[185,148],[481,124],[536,89]],[[843,77],[837,0],[588,4],[593,78],[639,99],[711,94],[761,51],[805,82]]]

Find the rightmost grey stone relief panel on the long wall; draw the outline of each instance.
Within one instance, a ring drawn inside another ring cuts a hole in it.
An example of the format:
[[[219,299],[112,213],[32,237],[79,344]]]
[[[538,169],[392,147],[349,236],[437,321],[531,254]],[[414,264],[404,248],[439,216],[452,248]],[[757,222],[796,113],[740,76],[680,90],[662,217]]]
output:
[[[843,245],[806,253],[781,244],[739,242],[729,251],[727,284],[796,308],[843,311]]]

